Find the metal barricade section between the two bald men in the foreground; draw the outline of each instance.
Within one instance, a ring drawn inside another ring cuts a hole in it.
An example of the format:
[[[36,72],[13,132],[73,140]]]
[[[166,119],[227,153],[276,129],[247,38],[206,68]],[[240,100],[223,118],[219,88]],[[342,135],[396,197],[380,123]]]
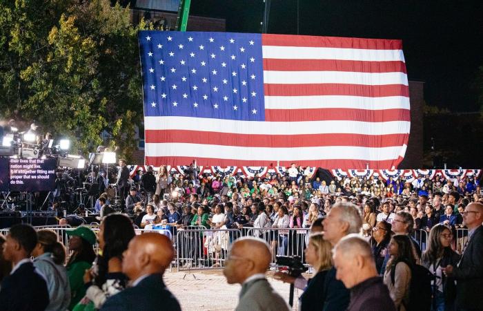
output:
[[[224,267],[239,229],[182,229],[176,236],[178,271]]]

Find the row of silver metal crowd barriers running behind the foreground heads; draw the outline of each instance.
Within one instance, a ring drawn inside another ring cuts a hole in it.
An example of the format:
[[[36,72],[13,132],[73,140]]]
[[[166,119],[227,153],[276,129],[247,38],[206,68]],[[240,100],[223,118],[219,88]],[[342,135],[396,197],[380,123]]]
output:
[[[55,232],[66,247],[68,256],[71,254],[69,248],[70,236],[68,231],[75,230],[70,226],[38,226],[36,230],[50,229]],[[99,227],[90,226],[90,229],[98,234]],[[178,271],[186,270],[208,270],[219,269],[225,266],[226,259],[230,254],[233,243],[243,236],[254,236],[262,238],[270,247],[272,252],[272,265],[276,265],[277,256],[300,256],[302,263],[305,263],[304,250],[308,245],[308,228],[255,228],[245,227],[243,229],[206,229],[203,226],[189,226],[184,229],[177,229],[174,234],[169,229],[135,229],[135,234],[145,232],[157,232],[171,238],[175,247],[176,257],[172,265]],[[0,234],[8,235],[8,229],[0,229]],[[412,237],[419,243],[422,252],[426,250],[428,243],[428,232],[424,229],[413,232]],[[368,237],[369,238],[369,237]],[[453,229],[453,249],[461,253],[464,243],[468,240],[468,229]],[[99,245],[94,245],[95,252]]]

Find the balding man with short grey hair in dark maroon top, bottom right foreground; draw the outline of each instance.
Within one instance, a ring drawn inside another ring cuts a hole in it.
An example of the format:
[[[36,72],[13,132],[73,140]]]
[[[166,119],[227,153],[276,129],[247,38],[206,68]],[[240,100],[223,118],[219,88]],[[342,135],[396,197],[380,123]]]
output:
[[[357,234],[349,234],[335,245],[333,260],[336,278],[351,290],[348,311],[395,311],[382,277],[377,275],[369,245]]]

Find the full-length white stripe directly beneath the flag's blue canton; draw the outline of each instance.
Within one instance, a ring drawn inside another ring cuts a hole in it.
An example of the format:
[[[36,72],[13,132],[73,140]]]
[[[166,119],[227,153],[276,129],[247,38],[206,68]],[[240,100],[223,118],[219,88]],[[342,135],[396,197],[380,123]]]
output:
[[[218,120],[201,117],[144,117],[150,130],[213,131],[220,133],[299,135],[315,133],[364,133],[366,135],[406,134],[410,122],[306,121],[260,122]],[[179,153],[178,156],[183,153]]]

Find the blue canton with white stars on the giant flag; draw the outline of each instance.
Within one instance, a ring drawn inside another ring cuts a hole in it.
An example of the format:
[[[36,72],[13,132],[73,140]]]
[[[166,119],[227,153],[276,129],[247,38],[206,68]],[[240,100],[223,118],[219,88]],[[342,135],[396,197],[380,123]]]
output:
[[[139,32],[144,115],[265,120],[262,36]]]

